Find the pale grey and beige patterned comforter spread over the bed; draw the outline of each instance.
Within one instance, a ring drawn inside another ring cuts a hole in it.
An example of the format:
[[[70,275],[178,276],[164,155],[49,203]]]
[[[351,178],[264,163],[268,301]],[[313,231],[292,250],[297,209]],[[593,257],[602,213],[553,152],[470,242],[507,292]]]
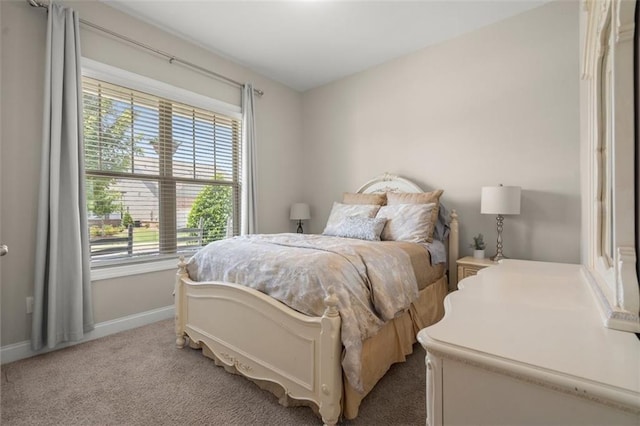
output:
[[[194,281],[247,285],[289,307],[322,316],[333,286],[342,318],[342,367],[362,391],[362,341],[418,296],[409,256],[393,242],[308,234],[247,235],[215,241],[191,258]]]

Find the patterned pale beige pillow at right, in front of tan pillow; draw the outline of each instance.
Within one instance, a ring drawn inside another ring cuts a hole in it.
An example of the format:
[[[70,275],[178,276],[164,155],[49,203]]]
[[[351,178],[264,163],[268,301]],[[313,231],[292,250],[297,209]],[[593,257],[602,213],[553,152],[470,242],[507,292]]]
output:
[[[431,213],[435,203],[394,204],[381,207],[376,217],[386,218],[387,223],[380,236],[383,241],[409,241],[424,243],[433,234]]]

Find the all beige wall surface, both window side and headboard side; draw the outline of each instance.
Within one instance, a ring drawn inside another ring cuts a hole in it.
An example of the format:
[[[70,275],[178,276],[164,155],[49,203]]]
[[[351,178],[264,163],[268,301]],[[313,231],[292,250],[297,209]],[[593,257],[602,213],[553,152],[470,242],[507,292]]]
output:
[[[259,227],[294,229],[293,201],[312,206],[311,231],[329,208],[384,171],[445,189],[472,234],[495,239],[480,215],[480,187],[523,188],[522,214],[507,218],[512,257],[579,261],[578,5],[558,2],[299,94],[95,1],[73,2],[83,19],[175,53],[265,91],[257,101]],[[40,164],[46,13],[0,1],[0,345],[29,337]],[[82,30],[85,56],[238,103],[239,92],[138,49]],[[490,244],[489,251],[494,246]],[[174,271],[94,283],[97,322],[172,303]]]

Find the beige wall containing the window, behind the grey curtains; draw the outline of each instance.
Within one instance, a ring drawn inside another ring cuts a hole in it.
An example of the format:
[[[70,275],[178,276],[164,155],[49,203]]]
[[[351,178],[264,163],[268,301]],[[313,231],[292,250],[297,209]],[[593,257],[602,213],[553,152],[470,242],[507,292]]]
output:
[[[89,22],[127,35],[237,81],[265,91],[257,99],[258,226],[261,232],[293,230],[288,208],[300,199],[302,98],[280,83],[140,22],[104,4],[67,2]],[[3,347],[29,338],[25,298],[33,294],[33,255],[40,173],[44,46],[47,14],[24,0],[1,1],[2,146],[0,236],[10,248],[2,258]],[[240,103],[237,88],[81,26],[83,55],[211,97]],[[98,323],[173,304],[174,270],[94,282]]]

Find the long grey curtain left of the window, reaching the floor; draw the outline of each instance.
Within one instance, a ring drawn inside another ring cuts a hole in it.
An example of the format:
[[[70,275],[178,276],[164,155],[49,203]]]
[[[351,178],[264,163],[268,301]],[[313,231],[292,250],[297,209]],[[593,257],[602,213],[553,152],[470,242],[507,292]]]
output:
[[[93,329],[80,79],[78,15],[52,3],[31,330],[34,350],[80,340]]]

